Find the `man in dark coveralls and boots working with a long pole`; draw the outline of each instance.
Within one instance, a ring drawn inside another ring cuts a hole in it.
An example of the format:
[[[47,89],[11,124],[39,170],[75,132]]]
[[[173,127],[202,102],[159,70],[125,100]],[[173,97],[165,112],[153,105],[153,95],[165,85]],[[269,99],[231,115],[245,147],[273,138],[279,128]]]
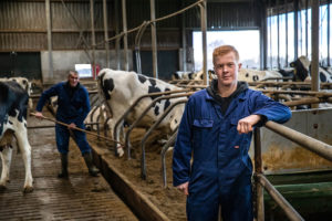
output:
[[[89,173],[96,177],[98,169],[93,165],[91,147],[86,140],[86,136],[83,131],[73,129],[74,127],[85,128],[83,122],[90,112],[89,93],[80,84],[79,73],[70,71],[66,82],[58,83],[42,93],[35,108],[35,117],[43,117],[42,108],[45,102],[52,96],[58,96],[56,120],[69,125],[68,127],[59,124],[55,125],[56,146],[61,155],[62,168],[58,177],[68,178],[68,152],[71,131],[84,157]]]

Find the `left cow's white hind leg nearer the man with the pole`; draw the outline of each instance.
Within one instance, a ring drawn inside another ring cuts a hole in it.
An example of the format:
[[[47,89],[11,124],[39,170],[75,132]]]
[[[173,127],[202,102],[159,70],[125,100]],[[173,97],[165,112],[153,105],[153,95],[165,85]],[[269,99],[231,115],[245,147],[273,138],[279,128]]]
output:
[[[31,146],[28,140],[28,133],[27,128],[23,124],[20,124],[19,131],[15,131],[15,137],[18,140],[18,146],[21,149],[22,152],[22,159],[24,161],[25,167],[25,181],[24,181],[24,192],[32,192],[33,191],[33,179],[31,173]]]

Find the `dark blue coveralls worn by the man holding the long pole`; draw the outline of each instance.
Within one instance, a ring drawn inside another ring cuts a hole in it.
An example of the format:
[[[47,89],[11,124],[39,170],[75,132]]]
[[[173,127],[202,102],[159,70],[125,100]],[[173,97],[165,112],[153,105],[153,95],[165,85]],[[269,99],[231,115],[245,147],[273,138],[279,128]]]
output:
[[[70,87],[68,82],[58,83],[42,93],[35,109],[42,112],[45,102],[52,96],[58,96],[56,120],[65,124],[74,123],[76,127],[85,129],[83,122],[90,112],[90,101],[86,88],[80,83],[74,88]],[[84,152],[91,152],[85,133],[79,130],[72,131],[82,155]],[[56,124],[55,137],[58,150],[61,154],[68,154],[70,139],[68,127]]]

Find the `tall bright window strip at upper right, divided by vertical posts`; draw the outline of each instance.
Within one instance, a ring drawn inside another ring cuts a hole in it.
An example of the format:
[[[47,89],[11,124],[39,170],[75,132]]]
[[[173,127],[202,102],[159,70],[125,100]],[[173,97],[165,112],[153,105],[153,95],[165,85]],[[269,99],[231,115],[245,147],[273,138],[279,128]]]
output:
[[[303,6],[302,6],[303,7]],[[332,11],[332,3],[329,6]],[[294,61],[294,12],[279,14],[279,54],[278,54],[278,15],[270,15],[271,10],[268,11],[268,61],[269,69],[278,67],[278,56],[280,67],[289,66],[290,62]],[[287,28],[286,28],[287,22]],[[305,55],[311,59],[311,9],[303,9],[298,12],[298,56]],[[330,52],[330,65],[332,63],[332,34],[330,33],[330,48],[328,48],[328,25],[332,30],[332,17],[328,21],[328,6],[320,7],[320,50],[319,57],[322,66],[328,66],[328,52]],[[288,36],[286,36],[286,29]],[[288,38],[288,46],[286,45],[286,38]],[[288,52],[286,61],[284,53]],[[287,65],[288,64],[288,65]]]

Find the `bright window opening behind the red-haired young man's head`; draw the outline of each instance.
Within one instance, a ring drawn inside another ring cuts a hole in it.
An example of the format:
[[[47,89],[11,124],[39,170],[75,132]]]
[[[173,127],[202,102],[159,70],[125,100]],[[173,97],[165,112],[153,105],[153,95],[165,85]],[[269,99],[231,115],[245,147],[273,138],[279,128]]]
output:
[[[201,32],[193,33],[195,71],[203,69]],[[248,44],[250,42],[250,44]],[[259,69],[259,31],[208,31],[207,32],[207,67],[214,69],[214,49],[222,44],[234,45],[240,54],[243,67]]]

